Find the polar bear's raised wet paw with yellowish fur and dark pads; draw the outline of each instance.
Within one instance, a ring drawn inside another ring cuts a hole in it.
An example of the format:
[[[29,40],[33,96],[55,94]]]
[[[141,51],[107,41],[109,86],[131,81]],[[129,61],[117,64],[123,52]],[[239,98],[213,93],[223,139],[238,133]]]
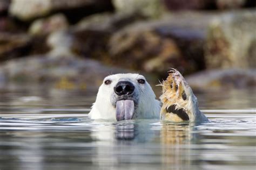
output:
[[[163,103],[161,120],[173,122],[199,122],[201,118],[207,120],[198,108],[197,97],[176,69],[170,70],[169,76],[161,86],[163,87],[163,94],[160,96]]]

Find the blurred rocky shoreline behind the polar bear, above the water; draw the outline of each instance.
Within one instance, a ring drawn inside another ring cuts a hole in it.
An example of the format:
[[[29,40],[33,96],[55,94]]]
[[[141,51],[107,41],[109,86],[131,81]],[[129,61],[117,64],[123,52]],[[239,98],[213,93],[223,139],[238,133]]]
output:
[[[113,73],[255,87],[254,0],[1,0],[0,86],[99,86]]]

